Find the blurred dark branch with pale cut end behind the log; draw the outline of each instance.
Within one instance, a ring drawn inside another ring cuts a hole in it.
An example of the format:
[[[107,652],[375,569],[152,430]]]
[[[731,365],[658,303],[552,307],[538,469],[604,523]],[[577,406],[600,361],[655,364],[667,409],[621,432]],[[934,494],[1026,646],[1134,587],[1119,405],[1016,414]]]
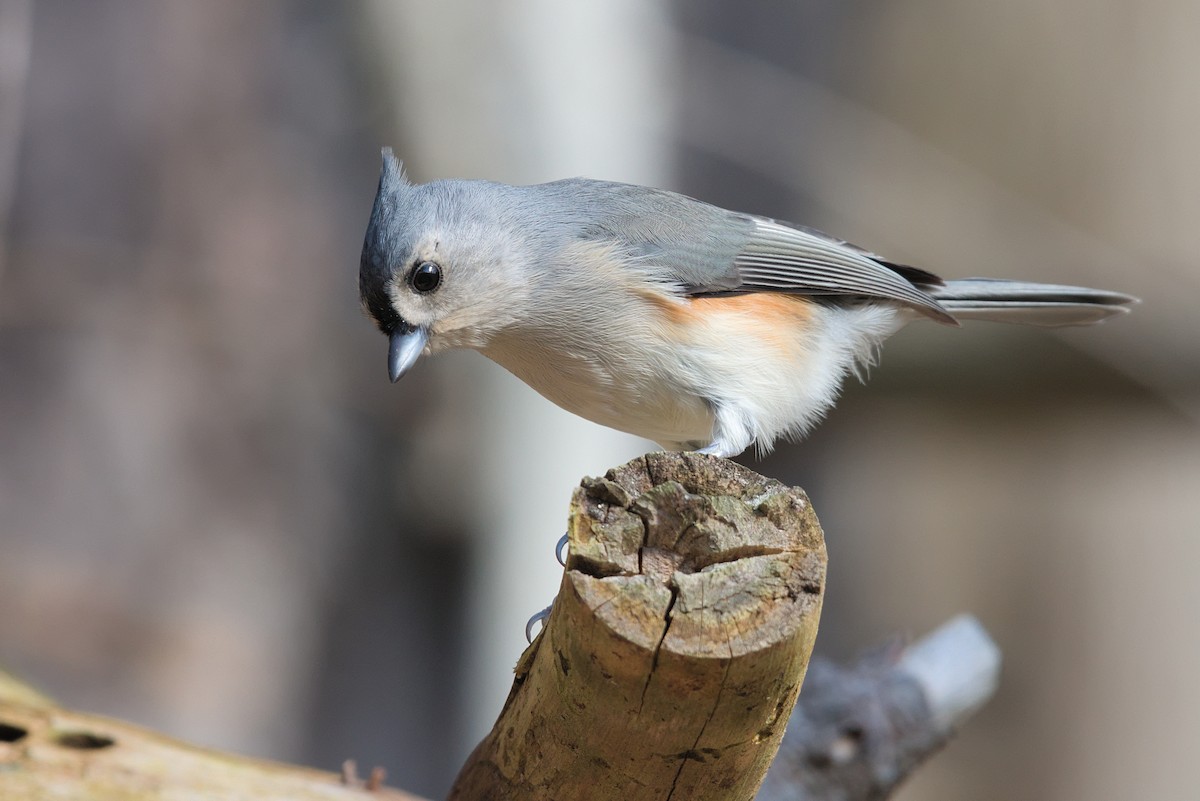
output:
[[[1000,650],[961,615],[857,664],[814,660],[758,801],[886,799],[996,691]]]

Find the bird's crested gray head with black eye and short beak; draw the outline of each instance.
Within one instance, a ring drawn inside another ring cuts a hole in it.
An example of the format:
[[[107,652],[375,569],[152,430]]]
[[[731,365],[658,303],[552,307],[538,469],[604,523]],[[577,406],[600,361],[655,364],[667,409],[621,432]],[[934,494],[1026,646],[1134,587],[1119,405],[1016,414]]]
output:
[[[390,339],[394,381],[426,349],[481,348],[511,321],[527,264],[514,239],[520,191],[486,181],[413,186],[384,149],[359,294]]]

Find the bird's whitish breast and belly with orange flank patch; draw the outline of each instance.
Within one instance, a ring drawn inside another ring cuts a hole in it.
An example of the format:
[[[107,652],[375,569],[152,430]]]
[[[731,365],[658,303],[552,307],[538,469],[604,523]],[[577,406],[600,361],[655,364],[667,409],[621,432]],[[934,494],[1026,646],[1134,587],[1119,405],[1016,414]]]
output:
[[[714,436],[718,410],[769,450],[828,409],[846,374],[901,324],[895,307],[830,307],[780,295],[679,300],[624,294],[484,349],[542,396],[672,450]],[[616,315],[613,308],[624,308]]]

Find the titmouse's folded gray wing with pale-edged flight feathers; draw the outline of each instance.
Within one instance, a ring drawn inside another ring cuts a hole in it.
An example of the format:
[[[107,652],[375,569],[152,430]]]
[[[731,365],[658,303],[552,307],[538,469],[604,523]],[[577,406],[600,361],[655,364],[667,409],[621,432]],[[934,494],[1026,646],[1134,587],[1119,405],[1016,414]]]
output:
[[[572,179],[538,188],[578,215],[575,230],[584,237],[620,241],[686,295],[878,297],[958,325],[924,290],[942,284],[937,276],[809,228],[628,183]]]

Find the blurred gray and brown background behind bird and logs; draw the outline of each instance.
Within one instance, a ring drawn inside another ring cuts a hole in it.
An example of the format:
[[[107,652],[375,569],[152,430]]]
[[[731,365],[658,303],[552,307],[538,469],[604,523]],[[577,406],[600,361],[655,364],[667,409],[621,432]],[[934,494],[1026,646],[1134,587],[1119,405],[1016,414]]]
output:
[[[995,700],[905,799],[1196,797],[1200,5],[0,0],[0,663],[204,745],[440,796],[646,442],[475,354],[385,377],[356,271],[414,180],[652,183],[952,277],[1144,299],[912,326],[756,470],[818,651],[977,614]]]

